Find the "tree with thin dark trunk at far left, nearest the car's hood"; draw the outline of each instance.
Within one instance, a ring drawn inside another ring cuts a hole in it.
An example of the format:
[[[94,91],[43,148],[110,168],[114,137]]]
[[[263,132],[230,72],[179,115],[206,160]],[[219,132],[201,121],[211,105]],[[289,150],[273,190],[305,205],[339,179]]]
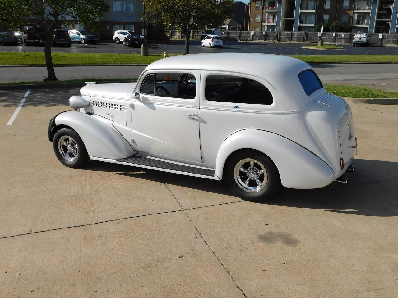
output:
[[[12,29],[17,24],[32,27],[44,44],[47,66],[47,78],[44,81],[56,81],[51,57],[54,30],[59,29],[67,19],[78,20],[80,24],[92,29],[97,28],[99,18],[109,10],[109,6],[102,0],[3,0],[0,10],[4,27]],[[10,16],[7,17],[7,14]],[[3,15],[6,17],[3,18]],[[38,28],[43,30],[37,30]]]

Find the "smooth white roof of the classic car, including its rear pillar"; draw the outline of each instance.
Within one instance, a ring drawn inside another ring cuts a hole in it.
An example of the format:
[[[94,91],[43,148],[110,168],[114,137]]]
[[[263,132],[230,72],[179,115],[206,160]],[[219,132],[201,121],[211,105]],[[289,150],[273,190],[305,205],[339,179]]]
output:
[[[298,74],[310,69],[306,62],[293,57],[256,53],[215,53],[172,56],[157,60],[147,70],[215,70],[247,74],[266,81],[275,97],[275,111],[293,111],[303,108],[325,90],[307,96]]]

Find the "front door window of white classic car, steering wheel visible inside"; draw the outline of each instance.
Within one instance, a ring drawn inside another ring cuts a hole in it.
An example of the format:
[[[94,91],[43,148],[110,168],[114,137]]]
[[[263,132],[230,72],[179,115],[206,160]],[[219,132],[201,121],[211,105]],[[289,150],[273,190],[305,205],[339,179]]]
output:
[[[192,74],[161,72],[146,75],[142,82],[141,93],[159,97],[194,99],[196,78]]]

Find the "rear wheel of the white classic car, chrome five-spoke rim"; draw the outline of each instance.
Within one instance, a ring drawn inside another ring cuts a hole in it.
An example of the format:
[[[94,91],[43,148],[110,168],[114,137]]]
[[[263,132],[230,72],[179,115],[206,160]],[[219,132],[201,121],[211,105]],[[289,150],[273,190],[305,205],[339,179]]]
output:
[[[275,164],[253,149],[237,151],[228,158],[224,179],[231,192],[246,201],[268,199],[280,186]]]

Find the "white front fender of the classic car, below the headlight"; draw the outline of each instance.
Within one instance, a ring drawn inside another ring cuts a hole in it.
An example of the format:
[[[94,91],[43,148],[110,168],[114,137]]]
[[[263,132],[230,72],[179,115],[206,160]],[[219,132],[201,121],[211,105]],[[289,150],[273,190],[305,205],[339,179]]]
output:
[[[69,126],[82,138],[90,156],[106,159],[122,159],[135,153],[126,139],[115,130],[111,122],[82,112],[63,112],[55,117],[57,126]]]

